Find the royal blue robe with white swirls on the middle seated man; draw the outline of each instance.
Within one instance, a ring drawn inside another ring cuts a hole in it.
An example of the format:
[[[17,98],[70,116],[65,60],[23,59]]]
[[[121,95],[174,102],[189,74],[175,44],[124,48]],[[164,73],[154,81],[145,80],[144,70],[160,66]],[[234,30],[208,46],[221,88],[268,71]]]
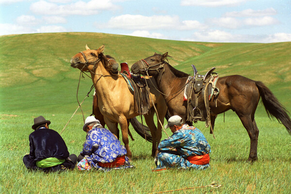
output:
[[[103,170],[106,168],[99,166],[98,162],[114,162],[116,158],[125,156],[127,151],[125,146],[120,144],[120,141],[110,130],[94,126],[87,133],[86,141],[80,154],[86,158],[91,167]],[[114,169],[133,167],[129,164],[128,157],[125,157],[125,160],[124,166]]]

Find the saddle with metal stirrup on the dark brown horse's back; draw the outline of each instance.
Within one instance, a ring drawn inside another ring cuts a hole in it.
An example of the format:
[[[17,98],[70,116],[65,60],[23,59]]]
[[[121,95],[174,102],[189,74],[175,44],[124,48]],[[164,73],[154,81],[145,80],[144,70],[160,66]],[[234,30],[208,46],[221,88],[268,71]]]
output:
[[[206,121],[205,127],[210,125],[209,102],[214,97],[216,100],[219,89],[216,87],[218,74],[211,68],[205,75],[197,73],[197,69],[192,65],[194,76],[189,77],[184,92],[184,100],[187,100],[187,121],[196,123]]]

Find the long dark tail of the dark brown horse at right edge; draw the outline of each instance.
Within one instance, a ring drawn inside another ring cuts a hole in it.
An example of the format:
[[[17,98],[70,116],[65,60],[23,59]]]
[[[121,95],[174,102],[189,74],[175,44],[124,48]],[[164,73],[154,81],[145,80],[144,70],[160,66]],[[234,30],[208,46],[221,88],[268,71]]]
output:
[[[274,117],[278,120],[279,123],[283,124],[289,134],[291,135],[291,120],[288,115],[286,108],[279,102],[275,95],[267,88],[261,81],[255,81],[259,89],[259,94],[261,96],[265,110],[270,118]],[[271,119],[271,118],[270,118]]]

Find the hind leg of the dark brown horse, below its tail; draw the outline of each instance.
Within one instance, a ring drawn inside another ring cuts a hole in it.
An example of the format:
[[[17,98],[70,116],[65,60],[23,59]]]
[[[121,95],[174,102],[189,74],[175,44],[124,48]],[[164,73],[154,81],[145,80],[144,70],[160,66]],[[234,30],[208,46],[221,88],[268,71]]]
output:
[[[257,127],[255,119],[254,118],[251,119],[250,115],[239,117],[242,121],[243,127],[246,129],[251,140],[250,155],[248,161],[254,162],[258,159],[257,149],[258,149],[259,129]]]

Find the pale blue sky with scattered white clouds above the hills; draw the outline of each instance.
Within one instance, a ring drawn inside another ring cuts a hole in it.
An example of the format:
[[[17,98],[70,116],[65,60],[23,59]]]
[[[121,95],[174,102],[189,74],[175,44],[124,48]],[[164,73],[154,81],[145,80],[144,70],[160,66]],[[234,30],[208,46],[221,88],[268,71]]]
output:
[[[0,0],[0,35],[47,32],[287,42],[291,0]]]

